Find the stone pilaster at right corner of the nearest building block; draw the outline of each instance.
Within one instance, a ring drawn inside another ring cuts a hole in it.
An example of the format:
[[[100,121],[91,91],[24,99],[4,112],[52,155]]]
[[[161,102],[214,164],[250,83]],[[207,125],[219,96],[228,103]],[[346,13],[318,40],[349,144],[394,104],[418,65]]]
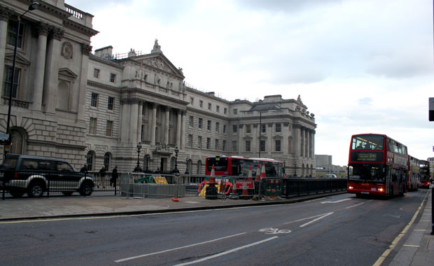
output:
[[[85,43],[81,43],[81,67],[80,67],[80,84],[78,88],[78,96],[73,97],[75,101],[77,99],[77,120],[85,120],[86,111],[86,91],[87,91],[87,69],[89,68],[89,55],[92,51],[92,46]],[[77,90],[75,90],[77,91]]]

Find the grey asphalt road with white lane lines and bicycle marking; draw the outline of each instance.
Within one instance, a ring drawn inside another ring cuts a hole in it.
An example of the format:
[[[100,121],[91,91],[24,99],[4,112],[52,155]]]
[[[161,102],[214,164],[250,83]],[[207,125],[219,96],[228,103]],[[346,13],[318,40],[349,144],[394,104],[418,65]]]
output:
[[[425,195],[0,223],[0,265],[374,265]]]

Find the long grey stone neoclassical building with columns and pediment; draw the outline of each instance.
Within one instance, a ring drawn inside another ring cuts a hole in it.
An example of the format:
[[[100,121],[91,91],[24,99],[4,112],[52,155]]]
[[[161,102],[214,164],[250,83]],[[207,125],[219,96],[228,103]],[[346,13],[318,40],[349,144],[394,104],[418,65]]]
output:
[[[0,132],[6,132],[14,25],[29,1],[0,0]],[[92,15],[63,1],[41,1],[22,17],[6,152],[87,162],[93,171],[204,174],[214,155],[274,158],[286,173],[315,175],[314,114],[300,96],[228,101],[186,83],[158,41],[151,52],[91,53]],[[16,31],[15,31],[16,34]],[[15,88],[15,87],[14,87]],[[242,88],[240,88],[242,89]],[[141,149],[138,153],[137,146]],[[3,150],[4,153],[5,151]],[[178,148],[179,153],[174,153]]]

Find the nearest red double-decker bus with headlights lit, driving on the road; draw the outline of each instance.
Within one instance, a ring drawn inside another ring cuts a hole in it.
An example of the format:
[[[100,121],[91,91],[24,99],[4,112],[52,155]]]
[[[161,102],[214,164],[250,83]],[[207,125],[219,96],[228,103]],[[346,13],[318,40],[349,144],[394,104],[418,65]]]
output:
[[[384,134],[353,135],[348,166],[348,193],[402,196],[406,191],[407,146]]]

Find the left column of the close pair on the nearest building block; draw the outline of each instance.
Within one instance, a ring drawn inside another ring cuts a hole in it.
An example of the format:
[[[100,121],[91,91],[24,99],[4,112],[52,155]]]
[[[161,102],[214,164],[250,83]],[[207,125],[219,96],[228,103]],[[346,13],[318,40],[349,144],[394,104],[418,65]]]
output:
[[[43,75],[45,72],[45,53],[47,51],[48,26],[38,25],[38,50],[36,52],[36,70],[33,88],[32,111],[42,111]]]

